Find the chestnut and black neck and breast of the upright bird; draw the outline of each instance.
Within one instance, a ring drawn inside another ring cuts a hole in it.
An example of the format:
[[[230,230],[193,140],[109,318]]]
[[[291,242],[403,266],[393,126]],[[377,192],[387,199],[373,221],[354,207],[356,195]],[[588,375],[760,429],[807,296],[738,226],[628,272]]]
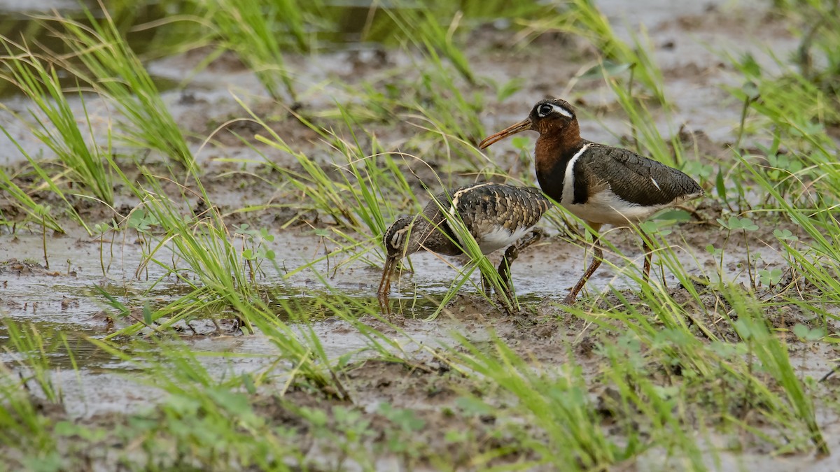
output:
[[[566,167],[585,144],[585,139],[580,138],[577,123],[562,130],[542,133],[537,139],[534,149],[537,181],[543,192],[557,202],[563,197]]]

